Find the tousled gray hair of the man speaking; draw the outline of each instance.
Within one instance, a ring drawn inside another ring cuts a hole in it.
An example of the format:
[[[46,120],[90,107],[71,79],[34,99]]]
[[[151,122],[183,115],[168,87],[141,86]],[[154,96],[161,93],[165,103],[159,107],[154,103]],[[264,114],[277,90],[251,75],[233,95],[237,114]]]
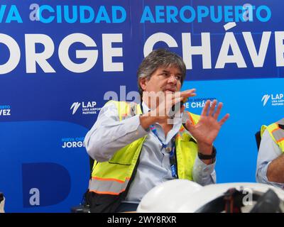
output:
[[[151,75],[157,70],[159,67],[177,67],[181,74],[182,79],[181,83],[185,79],[186,67],[185,62],[183,62],[182,57],[175,54],[174,52],[170,52],[165,49],[153,50],[144,60],[141,62],[138,72],[137,72],[137,84],[139,93],[142,95],[143,89],[140,86],[140,79],[146,78],[150,79]]]

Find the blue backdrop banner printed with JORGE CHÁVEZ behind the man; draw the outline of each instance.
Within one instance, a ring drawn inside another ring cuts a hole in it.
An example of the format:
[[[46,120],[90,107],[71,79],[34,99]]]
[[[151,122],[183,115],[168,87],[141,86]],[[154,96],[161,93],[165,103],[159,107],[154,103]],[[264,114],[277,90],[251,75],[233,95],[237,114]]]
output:
[[[7,212],[69,212],[88,187],[84,136],[109,96],[131,101],[143,57],[182,56],[186,108],[231,117],[217,182],[255,182],[262,124],[283,118],[280,0],[1,1],[0,192]],[[281,115],[282,114],[282,115]]]

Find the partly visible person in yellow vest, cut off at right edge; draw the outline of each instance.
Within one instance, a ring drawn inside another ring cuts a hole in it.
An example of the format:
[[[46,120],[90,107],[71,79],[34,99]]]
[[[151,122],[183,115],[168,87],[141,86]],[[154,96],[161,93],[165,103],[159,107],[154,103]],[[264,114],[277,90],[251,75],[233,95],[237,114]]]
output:
[[[256,181],[284,189],[284,118],[261,127]]]

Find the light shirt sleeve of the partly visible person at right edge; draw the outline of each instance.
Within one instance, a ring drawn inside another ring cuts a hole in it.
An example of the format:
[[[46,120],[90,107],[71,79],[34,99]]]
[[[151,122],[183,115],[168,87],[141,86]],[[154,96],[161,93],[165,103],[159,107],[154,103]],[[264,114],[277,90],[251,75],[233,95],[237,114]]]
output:
[[[271,184],[275,187],[283,188],[283,183],[270,182],[267,178],[267,169],[271,162],[281,155],[281,150],[273,141],[268,131],[264,131],[261,137],[261,145],[258,150],[258,159],[256,165],[256,182]]]

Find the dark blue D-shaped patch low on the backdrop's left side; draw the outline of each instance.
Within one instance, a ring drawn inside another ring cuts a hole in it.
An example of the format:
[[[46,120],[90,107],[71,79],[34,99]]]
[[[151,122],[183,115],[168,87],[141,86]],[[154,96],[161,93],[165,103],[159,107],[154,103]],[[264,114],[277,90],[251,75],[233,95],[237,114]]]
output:
[[[23,163],[23,207],[50,206],[70,193],[69,172],[57,163]]]

